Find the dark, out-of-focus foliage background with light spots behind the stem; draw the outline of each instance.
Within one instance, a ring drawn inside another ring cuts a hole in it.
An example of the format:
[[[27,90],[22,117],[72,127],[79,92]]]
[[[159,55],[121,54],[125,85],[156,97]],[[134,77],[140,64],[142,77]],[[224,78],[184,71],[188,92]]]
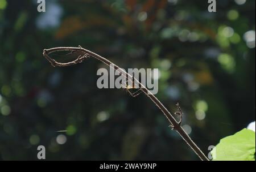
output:
[[[42,51],[56,46],[159,68],[156,97],[172,113],[180,102],[206,154],[255,121],[255,1],[217,1],[213,13],[199,0],[37,5],[0,0],[0,160],[36,160],[38,145],[47,160],[198,160],[146,96],[97,88],[105,65],[53,68]]]

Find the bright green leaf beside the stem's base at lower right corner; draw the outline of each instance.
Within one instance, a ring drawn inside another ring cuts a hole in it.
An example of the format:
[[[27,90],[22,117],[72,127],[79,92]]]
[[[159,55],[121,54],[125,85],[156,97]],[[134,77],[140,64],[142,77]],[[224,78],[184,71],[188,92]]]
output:
[[[214,161],[255,161],[255,132],[245,128],[225,137],[211,153]]]

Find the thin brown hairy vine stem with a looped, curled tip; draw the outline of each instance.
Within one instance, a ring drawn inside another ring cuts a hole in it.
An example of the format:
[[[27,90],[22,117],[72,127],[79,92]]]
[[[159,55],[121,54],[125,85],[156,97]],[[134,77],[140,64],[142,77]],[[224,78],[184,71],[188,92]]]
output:
[[[56,51],[78,51],[80,53],[79,57],[77,57],[77,59],[75,59],[75,61],[72,62],[68,62],[68,63],[60,63],[60,62],[56,62],[54,59],[52,59],[51,57],[49,57],[49,54],[56,52]],[[191,149],[197,154],[197,156],[199,156],[199,158],[203,161],[209,161],[208,158],[205,156],[205,154],[199,149],[199,147],[197,147],[197,145],[193,142],[193,140],[191,139],[191,137],[188,136],[188,134],[184,131],[184,129],[181,127],[181,121],[177,122],[176,119],[171,115],[171,113],[166,109],[166,107],[164,107],[164,105],[158,100],[158,98],[156,98],[154,96],[154,94],[152,94],[143,84],[141,84],[136,78],[133,78],[133,76],[131,76],[130,74],[128,74],[127,72],[125,72],[124,70],[122,70],[121,68],[119,68],[117,65],[115,65],[114,63],[110,62],[108,59],[101,57],[100,55],[93,53],[92,51],[86,50],[84,48],[81,48],[81,46],[77,47],[57,47],[57,48],[51,48],[51,49],[44,49],[43,50],[43,55],[44,57],[51,63],[52,66],[71,66],[71,65],[76,65],[77,63],[81,63],[82,61],[84,61],[84,59],[88,58],[88,57],[93,57],[98,59],[99,61],[105,63],[108,66],[114,66],[114,70],[118,71],[119,73],[121,72],[121,74],[123,76],[125,76],[126,79],[134,79],[134,81],[136,81],[139,85],[139,88],[141,88],[142,92],[144,94],[146,94],[147,97],[149,97],[156,106],[158,106],[158,108],[163,112],[163,114],[166,116],[166,118],[168,119],[168,121],[171,123],[171,127],[173,128],[173,130],[176,130],[179,135],[185,140],[185,142],[189,145],[189,147],[191,147]],[[128,78],[127,78],[128,76]],[[181,116],[182,119],[182,112],[180,109],[179,104],[176,105],[179,112],[177,112],[176,114],[179,114]]]

